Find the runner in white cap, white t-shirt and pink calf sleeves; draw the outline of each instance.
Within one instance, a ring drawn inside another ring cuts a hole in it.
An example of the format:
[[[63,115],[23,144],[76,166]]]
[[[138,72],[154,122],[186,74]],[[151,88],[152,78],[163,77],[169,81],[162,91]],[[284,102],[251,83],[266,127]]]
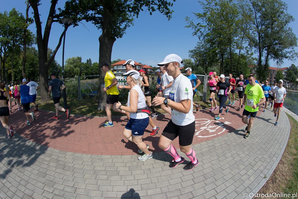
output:
[[[191,148],[195,134],[195,116],[192,113],[193,92],[191,82],[180,72],[180,63],[182,63],[182,59],[178,55],[169,54],[163,62],[157,64],[164,66],[169,76],[174,78],[174,81],[169,92],[169,99],[155,97],[152,104],[155,106],[165,104],[171,108],[172,119],[165,127],[158,142],[158,146],[173,157],[173,161],[169,164],[169,167],[175,168],[178,164],[185,161],[171,144],[176,137],[179,137],[181,152],[185,153],[191,160],[183,169],[191,170],[198,165],[196,152]]]

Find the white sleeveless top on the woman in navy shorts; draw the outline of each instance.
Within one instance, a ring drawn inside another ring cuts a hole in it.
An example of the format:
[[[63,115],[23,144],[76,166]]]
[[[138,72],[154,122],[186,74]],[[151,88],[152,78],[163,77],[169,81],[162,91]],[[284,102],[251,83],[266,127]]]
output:
[[[142,109],[142,108],[147,107],[146,101],[145,101],[145,95],[144,95],[141,87],[138,86],[138,85],[135,85],[135,86],[133,86],[133,88],[131,88],[131,90],[136,90],[139,94],[138,107],[137,108]],[[129,101],[130,91],[128,93],[127,106],[130,106],[130,101]],[[149,115],[147,113],[130,113],[129,117],[133,118],[133,119],[143,119],[143,118],[148,118]]]

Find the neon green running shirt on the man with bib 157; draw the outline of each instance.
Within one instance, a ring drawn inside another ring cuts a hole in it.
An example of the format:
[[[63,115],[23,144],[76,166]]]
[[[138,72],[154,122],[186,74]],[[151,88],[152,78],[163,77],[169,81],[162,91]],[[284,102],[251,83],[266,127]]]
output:
[[[259,107],[257,107],[256,109],[253,109],[252,106],[259,103],[260,99],[265,97],[262,87],[259,84],[256,84],[255,86],[251,86],[250,84],[247,84],[244,94],[247,94],[246,102],[245,102],[245,110],[249,112],[258,111]]]

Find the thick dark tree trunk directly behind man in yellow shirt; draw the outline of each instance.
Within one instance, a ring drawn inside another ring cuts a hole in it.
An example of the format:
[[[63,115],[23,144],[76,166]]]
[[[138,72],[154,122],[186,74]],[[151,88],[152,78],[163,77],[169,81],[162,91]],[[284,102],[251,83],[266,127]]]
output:
[[[108,35],[100,35],[99,40],[99,65],[104,62],[111,63],[112,57],[112,48],[113,44],[116,41],[116,38],[111,38]],[[106,92],[103,91],[102,84],[104,85],[105,74],[102,72],[102,68],[99,68],[99,86],[98,86],[98,101],[97,101],[97,110],[105,110],[106,106]]]

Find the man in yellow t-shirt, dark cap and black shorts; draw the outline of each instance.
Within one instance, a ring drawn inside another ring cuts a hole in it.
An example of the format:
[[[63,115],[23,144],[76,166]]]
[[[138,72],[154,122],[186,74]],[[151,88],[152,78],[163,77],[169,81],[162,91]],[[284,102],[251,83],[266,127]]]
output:
[[[116,79],[114,73],[110,69],[110,64],[104,62],[101,66],[102,71],[106,73],[105,76],[105,87],[103,90],[108,95],[106,97],[106,116],[108,117],[108,122],[104,123],[102,126],[104,127],[113,127],[114,124],[112,122],[112,113],[111,107],[113,107],[113,111],[117,111],[120,113],[124,113],[125,111],[121,111],[116,109],[116,103],[118,102],[119,90],[117,89],[118,80]]]

